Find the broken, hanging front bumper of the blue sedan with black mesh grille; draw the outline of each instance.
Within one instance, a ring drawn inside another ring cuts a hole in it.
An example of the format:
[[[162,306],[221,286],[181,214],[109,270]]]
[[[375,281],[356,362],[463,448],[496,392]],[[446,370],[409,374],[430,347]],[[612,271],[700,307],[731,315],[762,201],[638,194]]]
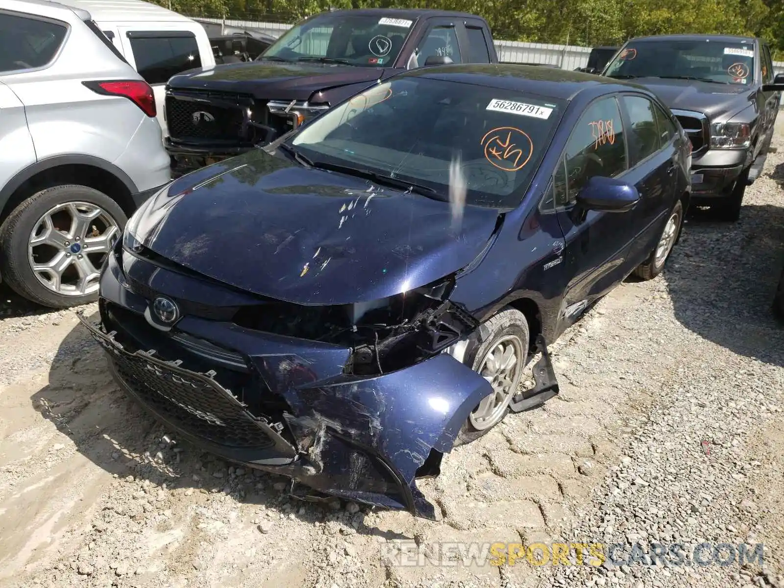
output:
[[[112,255],[101,277],[103,325],[82,322],[118,384],[180,437],[325,494],[435,518],[415,480],[437,474],[492,391],[476,372],[438,354],[349,376],[347,348],[188,315],[162,332],[143,318],[147,309]]]

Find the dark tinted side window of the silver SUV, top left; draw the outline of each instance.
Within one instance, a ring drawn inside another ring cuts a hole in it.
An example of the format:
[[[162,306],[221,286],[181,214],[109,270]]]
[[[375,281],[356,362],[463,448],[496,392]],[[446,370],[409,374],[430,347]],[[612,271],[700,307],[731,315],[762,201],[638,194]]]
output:
[[[67,32],[59,21],[0,12],[0,73],[49,65]]]

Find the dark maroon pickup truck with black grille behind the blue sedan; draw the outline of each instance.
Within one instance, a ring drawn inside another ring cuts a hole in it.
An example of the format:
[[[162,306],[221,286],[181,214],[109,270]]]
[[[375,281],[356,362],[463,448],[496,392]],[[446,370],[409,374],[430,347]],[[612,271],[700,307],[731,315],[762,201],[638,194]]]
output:
[[[300,21],[251,63],[174,76],[166,149],[175,175],[272,140],[414,67],[495,64],[487,22],[426,9],[335,10]]]

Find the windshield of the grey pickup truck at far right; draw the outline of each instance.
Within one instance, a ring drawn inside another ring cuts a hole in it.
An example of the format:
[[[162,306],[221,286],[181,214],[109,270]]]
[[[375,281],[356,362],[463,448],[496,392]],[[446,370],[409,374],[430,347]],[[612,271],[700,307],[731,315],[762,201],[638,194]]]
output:
[[[754,79],[754,45],[706,38],[632,41],[615,56],[604,75],[750,84]]]

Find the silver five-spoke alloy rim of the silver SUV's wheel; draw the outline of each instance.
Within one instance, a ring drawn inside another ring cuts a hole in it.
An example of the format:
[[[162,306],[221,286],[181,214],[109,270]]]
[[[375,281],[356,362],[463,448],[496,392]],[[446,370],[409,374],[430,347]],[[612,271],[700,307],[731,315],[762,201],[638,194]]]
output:
[[[117,221],[99,206],[64,202],[35,223],[27,260],[47,289],[63,296],[92,294],[98,289],[101,264],[119,234]]]

